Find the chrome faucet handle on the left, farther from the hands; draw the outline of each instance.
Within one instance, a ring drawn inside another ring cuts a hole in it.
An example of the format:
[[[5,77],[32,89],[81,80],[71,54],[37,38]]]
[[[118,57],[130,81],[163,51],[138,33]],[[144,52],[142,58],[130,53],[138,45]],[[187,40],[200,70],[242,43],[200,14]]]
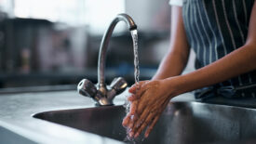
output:
[[[79,84],[77,85],[77,91],[79,94],[90,98],[94,98],[97,94],[96,86],[88,79],[83,79],[79,82]]]

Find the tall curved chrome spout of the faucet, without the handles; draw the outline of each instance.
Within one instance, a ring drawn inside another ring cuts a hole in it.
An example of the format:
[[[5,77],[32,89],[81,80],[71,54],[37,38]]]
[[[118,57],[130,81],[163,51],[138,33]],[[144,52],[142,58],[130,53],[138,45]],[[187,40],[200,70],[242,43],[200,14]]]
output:
[[[100,53],[99,53],[99,59],[98,59],[98,83],[101,89],[102,93],[105,93],[105,59],[106,59],[106,51],[107,47],[110,41],[110,38],[112,36],[112,33],[115,29],[115,25],[119,21],[125,21],[128,25],[129,31],[136,30],[137,26],[127,14],[119,14],[115,17],[114,20],[110,23],[109,28],[104,33],[102,40],[101,40],[101,47],[100,47]]]

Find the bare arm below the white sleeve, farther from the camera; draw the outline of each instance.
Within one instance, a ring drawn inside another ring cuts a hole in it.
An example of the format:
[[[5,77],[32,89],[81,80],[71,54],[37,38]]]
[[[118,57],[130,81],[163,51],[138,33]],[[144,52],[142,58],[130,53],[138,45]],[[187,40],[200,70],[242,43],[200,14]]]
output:
[[[168,54],[161,61],[153,80],[180,75],[186,66],[189,46],[182,20],[182,7],[171,7],[171,31]]]

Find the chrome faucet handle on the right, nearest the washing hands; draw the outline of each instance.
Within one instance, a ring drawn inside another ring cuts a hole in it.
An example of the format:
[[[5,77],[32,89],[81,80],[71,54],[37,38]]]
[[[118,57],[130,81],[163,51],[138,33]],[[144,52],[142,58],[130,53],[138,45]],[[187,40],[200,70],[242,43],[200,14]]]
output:
[[[115,95],[122,93],[128,86],[127,81],[123,77],[115,78],[110,87],[115,90]]]

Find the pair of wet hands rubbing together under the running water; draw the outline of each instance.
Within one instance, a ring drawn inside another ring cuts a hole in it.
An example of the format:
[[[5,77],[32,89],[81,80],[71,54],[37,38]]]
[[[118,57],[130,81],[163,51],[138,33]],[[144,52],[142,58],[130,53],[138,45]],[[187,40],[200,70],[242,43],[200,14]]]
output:
[[[143,81],[133,85],[129,92],[132,94],[128,97],[131,102],[130,111],[123,125],[130,129],[129,137],[139,137],[147,127],[144,137],[148,137],[169,99],[175,96],[174,88],[167,80]]]

